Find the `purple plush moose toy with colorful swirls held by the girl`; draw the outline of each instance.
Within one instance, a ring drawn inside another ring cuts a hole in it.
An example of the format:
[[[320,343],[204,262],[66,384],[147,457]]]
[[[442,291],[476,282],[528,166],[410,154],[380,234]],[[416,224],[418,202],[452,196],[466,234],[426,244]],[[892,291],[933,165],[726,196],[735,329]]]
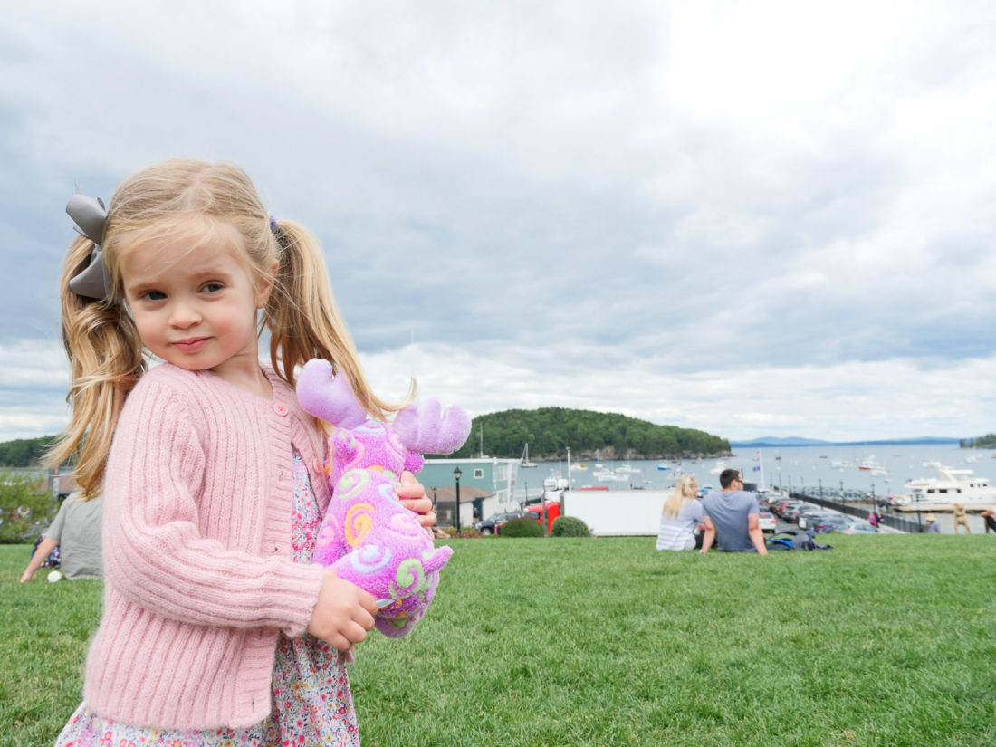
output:
[[[419,453],[448,454],[470,434],[470,418],[455,405],[439,414],[439,402],[408,405],[387,425],[368,420],[346,375],[313,359],[298,376],[298,401],[333,425],[325,478],[332,503],[319,530],[315,561],[377,600],[374,625],[401,637],[425,614],[439,570],[453,551],[436,549],[415,514],[394,492],[402,470],[422,468]]]

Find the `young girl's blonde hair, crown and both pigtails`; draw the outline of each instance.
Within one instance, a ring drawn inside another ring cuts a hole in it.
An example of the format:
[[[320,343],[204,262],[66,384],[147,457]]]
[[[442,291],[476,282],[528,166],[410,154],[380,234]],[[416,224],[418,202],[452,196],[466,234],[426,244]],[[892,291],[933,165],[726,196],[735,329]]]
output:
[[[69,288],[69,281],[87,266],[94,243],[77,238],[66,256],[60,297],[63,344],[72,368],[66,397],[72,417],[47,462],[60,464],[75,456],[76,479],[87,499],[101,490],[124,399],[147,370],[141,338],[124,306],[122,254],[151,238],[175,235],[177,229],[190,233],[200,216],[213,219],[200,221],[201,230],[213,230],[214,221],[235,228],[255,280],[273,281],[260,333],[270,334],[270,361],[281,378],[293,386],[298,366],[322,358],[349,377],[373,417],[384,419],[403,406],[378,399],[364,377],[315,236],[291,221],[271,227],[256,187],[239,166],[168,160],[127,177],[111,200],[102,245],[113,285],[108,299],[83,298]]]

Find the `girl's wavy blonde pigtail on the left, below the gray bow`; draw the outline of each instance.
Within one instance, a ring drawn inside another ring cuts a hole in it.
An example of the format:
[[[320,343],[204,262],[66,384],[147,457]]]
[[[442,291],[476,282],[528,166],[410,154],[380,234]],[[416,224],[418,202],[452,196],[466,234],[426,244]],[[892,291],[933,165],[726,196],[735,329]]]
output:
[[[66,401],[72,416],[45,456],[49,466],[76,459],[74,475],[89,500],[101,492],[108,452],[124,397],[145,370],[141,339],[116,294],[84,298],[69,281],[87,266],[94,242],[80,237],[69,248],[60,283],[63,345],[72,369]]]

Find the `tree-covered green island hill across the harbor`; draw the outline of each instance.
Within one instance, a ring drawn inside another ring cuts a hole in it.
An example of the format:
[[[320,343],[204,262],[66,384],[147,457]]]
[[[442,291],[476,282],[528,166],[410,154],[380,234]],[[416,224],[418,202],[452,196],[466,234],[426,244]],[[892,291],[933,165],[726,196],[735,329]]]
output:
[[[483,438],[482,438],[483,436]],[[557,459],[571,447],[572,459],[663,459],[728,454],[725,438],[704,430],[655,425],[614,412],[565,407],[507,409],[475,417],[470,438],[454,457],[483,450],[489,456],[515,458],[529,444],[530,459]]]

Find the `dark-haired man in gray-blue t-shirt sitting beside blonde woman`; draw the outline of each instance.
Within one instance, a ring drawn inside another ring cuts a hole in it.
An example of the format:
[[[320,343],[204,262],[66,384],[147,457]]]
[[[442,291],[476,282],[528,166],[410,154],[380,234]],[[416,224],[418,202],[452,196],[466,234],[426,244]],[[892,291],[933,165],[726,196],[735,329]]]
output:
[[[702,553],[709,552],[713,542],[720,550],[767,555],[764,532],[758,523],[757,498],[744,491],[744,481],[735,469],[724,469],[719,475],[722,492],[709,493],[702,499],[705,514],[705,534]]]

